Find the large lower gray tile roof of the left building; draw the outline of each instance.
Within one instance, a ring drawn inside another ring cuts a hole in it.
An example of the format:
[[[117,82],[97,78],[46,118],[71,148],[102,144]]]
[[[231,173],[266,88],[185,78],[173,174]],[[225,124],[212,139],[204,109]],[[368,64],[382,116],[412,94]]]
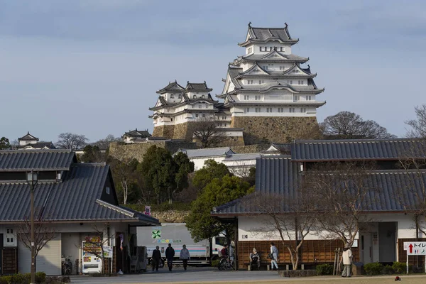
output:
[[[158,220],[118,204],[101,200],[109,166],[74,164],[64,173],[62,182],[35,185],[37,217],[52,222],[143,222]],[[19,222],[29,217],[30,188],[26,182],[0,183],[0,222]]]

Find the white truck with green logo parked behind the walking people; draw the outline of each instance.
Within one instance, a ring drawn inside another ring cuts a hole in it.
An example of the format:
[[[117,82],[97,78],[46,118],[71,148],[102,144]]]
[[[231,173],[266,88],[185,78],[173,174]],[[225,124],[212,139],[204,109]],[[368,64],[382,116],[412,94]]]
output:
[[[148,261],[151,263],[151,256],[155,246],[160,247],[161,258],[164,265],[165,249],[168,244],[172,244],[175,249],[175,262],[180,263],[179,255],[182,246],[185,244],[190,251],[189,264],[202,265],[210,264],[212,258],[217,257],[217,251],[223,248],[224,236],[216,236],[212,239],[212,254],[210,254],[209,240],[195,242],[188,231],[185,223],[167,223],[161,226],[139,226],[136,231],[138,246],[145,246],[148,253]]]

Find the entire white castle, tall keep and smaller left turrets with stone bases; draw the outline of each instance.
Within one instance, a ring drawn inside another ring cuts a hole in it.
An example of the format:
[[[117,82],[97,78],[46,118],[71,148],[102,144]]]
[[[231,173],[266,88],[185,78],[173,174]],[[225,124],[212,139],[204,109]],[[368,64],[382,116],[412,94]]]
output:
[[[253,28],[239,46],[246,54],[229,63],[224,89],[212,99],[204,83],[171,82],[160,89],[154,114],[153,136],[192,140],[190,124],[202,118],[214,119],[217,127],[236,144],[261,141],[283,143],[293,138],[315,138],[317,100],[324,92],[314,82],[317,74],[309,60],[292,53],[298,43],[284,28]],[[228,145],[229,146],[229,145]]]

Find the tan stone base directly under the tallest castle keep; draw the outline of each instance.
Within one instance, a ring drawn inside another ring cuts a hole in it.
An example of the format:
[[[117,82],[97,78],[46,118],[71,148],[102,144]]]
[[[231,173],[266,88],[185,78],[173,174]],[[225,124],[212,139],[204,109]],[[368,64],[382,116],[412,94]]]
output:
[[[233,116],[231,127],[244,128],[246,145],[320,138],[316,117]]]

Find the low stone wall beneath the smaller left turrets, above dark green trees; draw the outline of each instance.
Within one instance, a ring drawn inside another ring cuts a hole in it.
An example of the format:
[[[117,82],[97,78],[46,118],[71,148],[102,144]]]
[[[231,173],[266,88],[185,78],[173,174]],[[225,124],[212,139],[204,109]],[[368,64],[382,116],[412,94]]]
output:
[[[146,142],[146,143],[131,143],[131,144],[122,144],[119,142],[113,142],[109,144],[109,155],[111,157],[119,160],[131,160],[136,158],[139,162],[143,160],[143,155],[145,155],[148,148],[151,146],[157,146],[160,148],[165,148],[170,151],[170,153],[175,153],[179,148],[185,149],[195,149],[196,145],[192,142],[185,141],[155,141],[155,142]]]

